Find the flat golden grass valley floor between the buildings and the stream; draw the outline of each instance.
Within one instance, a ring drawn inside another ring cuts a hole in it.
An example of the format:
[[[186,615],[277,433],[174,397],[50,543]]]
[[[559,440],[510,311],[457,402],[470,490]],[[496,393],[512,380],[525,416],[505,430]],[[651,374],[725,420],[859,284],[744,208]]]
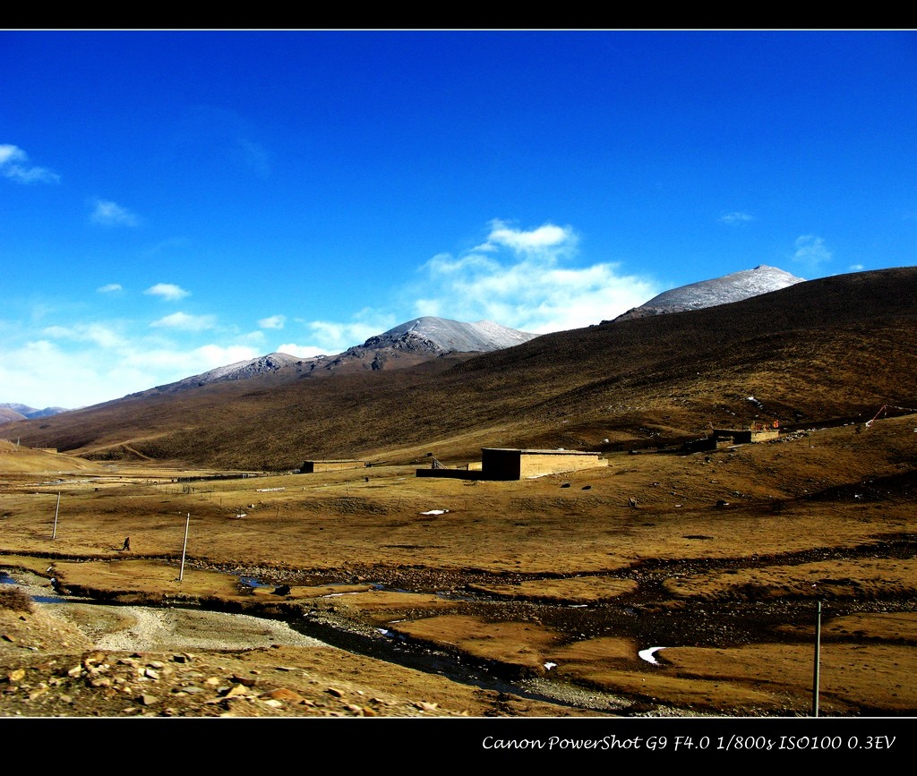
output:
[[[821,600],[823,713],[904,715],[917,708],[914,426],[909,416],[708,454],[611,454],[607,467],[521,482],[418,478],[412,466],[187,483],[177,479],[188,472],[149,465],[7,478],[4,562],[53,563],[62,584],[122,602],[311,608],[509,676],[698,714],[806,714]],[[241,574],[290,589],[246,590]],[[659,665],[638,657],[650,647],[666,648]]]

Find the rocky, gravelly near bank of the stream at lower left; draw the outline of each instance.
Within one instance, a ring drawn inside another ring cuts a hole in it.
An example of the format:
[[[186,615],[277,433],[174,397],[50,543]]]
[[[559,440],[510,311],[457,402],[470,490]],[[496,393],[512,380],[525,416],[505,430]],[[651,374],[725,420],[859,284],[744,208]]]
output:
[[[589,716],[627,705],[538,680],[519,694],[456,683],[281,620],[100,605],[32,574],[17,582],[39,603],[0,610],[0,716]]]

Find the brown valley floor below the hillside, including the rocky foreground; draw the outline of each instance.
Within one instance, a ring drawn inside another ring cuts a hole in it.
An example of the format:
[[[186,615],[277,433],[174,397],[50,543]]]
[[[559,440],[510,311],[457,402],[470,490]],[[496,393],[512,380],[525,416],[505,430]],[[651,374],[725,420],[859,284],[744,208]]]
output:
[[[13,574],[125,612],[285,618],[346,649],[226,631],[226,649],[179,633],[171,649],[98,650],[97,626],[8,609],[0,714],[806,716],[821,602],[820,713],[911,716],[915,427],[609,454],[520,482],[410,466],[179,482],[213,472],[7,448]],[[657,662],[639,656],[652,648]]]

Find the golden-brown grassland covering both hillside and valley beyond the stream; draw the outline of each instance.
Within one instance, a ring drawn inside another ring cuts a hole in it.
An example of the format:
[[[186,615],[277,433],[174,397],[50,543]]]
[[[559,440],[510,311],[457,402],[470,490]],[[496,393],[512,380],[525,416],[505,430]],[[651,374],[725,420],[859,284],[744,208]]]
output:
[[[915,287],[914,268],[822,279],[477,357],[12,423],[95,460],[3,445],[0,551],[99,596],[314,609],[698,713],[807,713],[821,601],[824,712],[912,714]],[[883,405],[898,409],[867,426]],[[756,416],[803,433],[657,453]],[[609,465],[415,476],[427,454],[467,464],[482,446],[599,449]],[[351,456],[372,466],[180,480]],[[291,589],[246,591],[243,574]],[[658,665],[638,655],[651,647]]]

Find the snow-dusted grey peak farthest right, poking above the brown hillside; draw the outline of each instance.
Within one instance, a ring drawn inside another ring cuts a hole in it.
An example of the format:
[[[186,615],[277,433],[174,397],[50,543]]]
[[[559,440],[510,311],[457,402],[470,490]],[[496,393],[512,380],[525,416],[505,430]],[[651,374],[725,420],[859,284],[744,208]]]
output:
[[[804,281],[804,278],[797,278],[782,269],[759,264],[754,269],[743,269],[740,272],[724,275],[722,278],[701,280],[664,291],[639,307],[622,313],[614,320],[629,321],[633,318],[645,318],[647,315],[702,310],[705,307],[729,304],[770,291],[778,291]],[[607,321],[602,322],[607,323]]]

